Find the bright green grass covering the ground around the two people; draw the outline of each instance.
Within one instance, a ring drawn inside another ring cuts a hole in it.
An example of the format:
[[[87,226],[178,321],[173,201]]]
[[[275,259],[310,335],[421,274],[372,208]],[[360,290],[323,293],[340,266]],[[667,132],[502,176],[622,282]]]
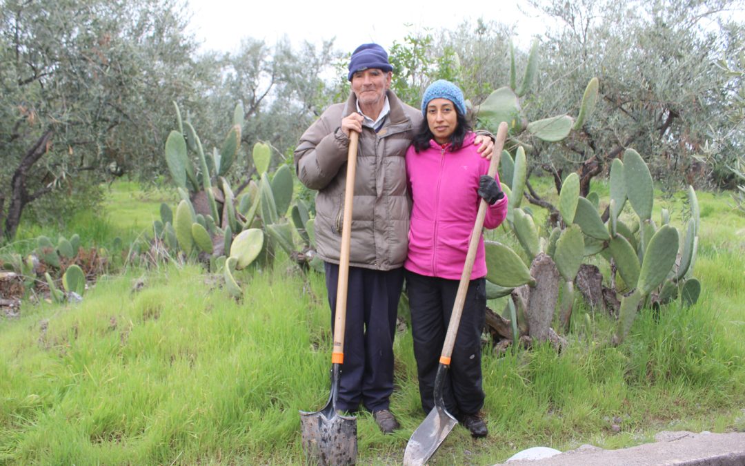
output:
[[[108,215],[77,227],[132,239],[173,199],[115,186]],[[657,210],[682,224],[684,199]],[[744,431],[745,218],[727,195],[699,199],[695,306],[641,312],[619,347],[608,344],[612,322],[591,312],[587,325],[580,309],[561,354],[486,349],[489,437],[457,427],[432,464],[491,465],[538,445],[626,447],[664,429]],[[28,304],[0,320],[0,463],[302,464],[298,410],[329,394],[323,277],[285,262],[243,280],[236,303],[221,277],[193,265],[128,268],[101,277],[83,303]],[[399,464],[425,415],[408,330],[395,350],[402,429],[382,435],[359,413],[361,464]]]

